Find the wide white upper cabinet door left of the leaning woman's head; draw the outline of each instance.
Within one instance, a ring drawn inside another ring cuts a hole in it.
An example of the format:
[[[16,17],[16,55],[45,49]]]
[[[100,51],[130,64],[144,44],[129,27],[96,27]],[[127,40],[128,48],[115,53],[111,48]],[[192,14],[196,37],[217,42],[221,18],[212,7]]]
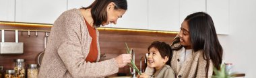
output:
[[[66,0],[16,0],[15,21],[54,23],[66,10]]]

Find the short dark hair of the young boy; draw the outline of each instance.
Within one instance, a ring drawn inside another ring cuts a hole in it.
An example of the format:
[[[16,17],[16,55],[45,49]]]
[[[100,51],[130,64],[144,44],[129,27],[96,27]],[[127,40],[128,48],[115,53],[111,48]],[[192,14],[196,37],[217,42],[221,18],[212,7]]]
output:
[[[172,60],[172,49],[170,49],[170,45],[168,45],[167,43],[164,42],[160,42],[160,41],[154,41],[153,43],[151,43],[151,45],[148,47],[148,51],[150,51],[150,49],[152,47],[155,47],[156,49],[158,49],[161,57],[164,59],[164,57],[169,57],[168,61],[166,62],[167,65],[170,65],[170,61]]]

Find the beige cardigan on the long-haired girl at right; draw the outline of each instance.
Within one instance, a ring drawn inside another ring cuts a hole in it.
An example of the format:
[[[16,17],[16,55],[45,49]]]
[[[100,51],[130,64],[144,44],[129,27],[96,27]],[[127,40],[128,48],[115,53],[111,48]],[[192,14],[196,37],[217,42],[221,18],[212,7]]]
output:
[[[176,75],[177,78],[205,78],[205,67],[206,67],[206,60],[203,59],[203,51],[196,51],[192,52],[192,57],[189,57],[183,63],[181,67],[181,63],[179,63],[179,59],[181,59],[181,49],[178,51],[172,51],[172,61],[171,67]],[[152,71],[154,69],[147,67],[145,73],[148,75],[152,75]],[[211,78],[213,74],[213,65],[212,61],[210,61],[209,70],[208,70],[208,77]]]

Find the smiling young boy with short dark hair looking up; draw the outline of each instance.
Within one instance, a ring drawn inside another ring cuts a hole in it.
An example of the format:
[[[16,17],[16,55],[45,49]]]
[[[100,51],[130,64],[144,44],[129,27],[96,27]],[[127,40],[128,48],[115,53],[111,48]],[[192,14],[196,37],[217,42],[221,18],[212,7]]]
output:
[[[170,67],[170,61],[172,59],[172,51],[170,45],[154,41],[149,47],[149,56],[148,56],[148,67],[154,68],[152,75],[138,75],[138,78],[174,78],[175,74],[172,68]]]

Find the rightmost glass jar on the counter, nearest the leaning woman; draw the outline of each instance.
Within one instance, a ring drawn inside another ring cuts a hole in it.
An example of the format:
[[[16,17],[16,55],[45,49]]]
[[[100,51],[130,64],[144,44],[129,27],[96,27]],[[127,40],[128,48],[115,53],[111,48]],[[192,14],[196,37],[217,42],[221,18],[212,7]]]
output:
[[[28,78],[37,78],[38,76],[38,67],[36,64],[29,64],[28,65]]]

